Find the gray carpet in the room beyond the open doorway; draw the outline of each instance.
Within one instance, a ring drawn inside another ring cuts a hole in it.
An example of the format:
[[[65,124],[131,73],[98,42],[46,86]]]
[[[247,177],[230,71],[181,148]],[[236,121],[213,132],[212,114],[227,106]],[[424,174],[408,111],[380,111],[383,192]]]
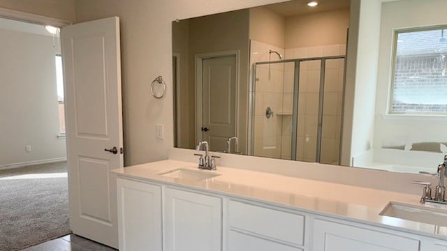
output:
[[[0,250],[70,234],[66,162],[0,170]]]

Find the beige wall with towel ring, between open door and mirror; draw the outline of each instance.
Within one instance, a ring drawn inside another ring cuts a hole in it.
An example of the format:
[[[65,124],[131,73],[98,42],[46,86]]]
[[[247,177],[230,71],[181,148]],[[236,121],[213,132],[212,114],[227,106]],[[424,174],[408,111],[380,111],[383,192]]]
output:
[[[78,0],[76,20],[85,22],[113,15],[120,17],[124,147],[126,165],[167,158],[173,146],[172,21],[281,0]],[[242,62],[241,62],[242,65]],[[166,98],[150,96],[149,84],[162,75]],[[165,138],[155,138],[155,124],[165,126]]]

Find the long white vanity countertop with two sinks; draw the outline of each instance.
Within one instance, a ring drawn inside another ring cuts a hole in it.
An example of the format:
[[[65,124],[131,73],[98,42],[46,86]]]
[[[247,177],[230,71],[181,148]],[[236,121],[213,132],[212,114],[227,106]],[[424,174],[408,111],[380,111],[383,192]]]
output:
[[[309,179],[288,177],[279,174],[254,172],[244,169],[217,167],[220,174],[205,181],[185,181],[179,178],[160,176],[158,173],[177,168],[198,170],[196,163],[178,160],[161,160],[132,167],[114,169],[118,176],[137,178],[180,185],[223,195],[252,199],[267,204],[283,206],[308,213],[355,220],[379,227],[388,227],[424,234],[447,240],[447,227],[401,220],[379,213],[389,201],[419,205],[420,196],[390,192],[353,185],[342,185]],[[200,170],[200,172],[212,172]],[[422,190],[422,189],[421,189]],[[436,229],[436,230],[435,230]]]

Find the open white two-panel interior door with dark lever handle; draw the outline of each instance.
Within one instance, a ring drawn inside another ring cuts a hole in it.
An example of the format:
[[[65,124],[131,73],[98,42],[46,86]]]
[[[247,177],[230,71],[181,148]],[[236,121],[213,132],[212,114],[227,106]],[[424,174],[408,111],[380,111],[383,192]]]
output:
[[[119,18],[66,26],[61,46],[70,227],[117,248],[116,178],[110,170],[123,167]]]

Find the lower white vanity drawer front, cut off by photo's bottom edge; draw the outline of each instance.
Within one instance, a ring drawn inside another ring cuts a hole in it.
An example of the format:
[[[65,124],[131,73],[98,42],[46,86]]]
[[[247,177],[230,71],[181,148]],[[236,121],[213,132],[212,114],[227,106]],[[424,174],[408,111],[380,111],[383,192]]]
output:
[[[256,250],[256,251],[300,251],[302,249],[290,245],[284,245],[274,241],[261,238],[259,236],[251,236],[242,234],[237,231],[230,230],[230,242],[228,243],[229,251],[240,250]]]

